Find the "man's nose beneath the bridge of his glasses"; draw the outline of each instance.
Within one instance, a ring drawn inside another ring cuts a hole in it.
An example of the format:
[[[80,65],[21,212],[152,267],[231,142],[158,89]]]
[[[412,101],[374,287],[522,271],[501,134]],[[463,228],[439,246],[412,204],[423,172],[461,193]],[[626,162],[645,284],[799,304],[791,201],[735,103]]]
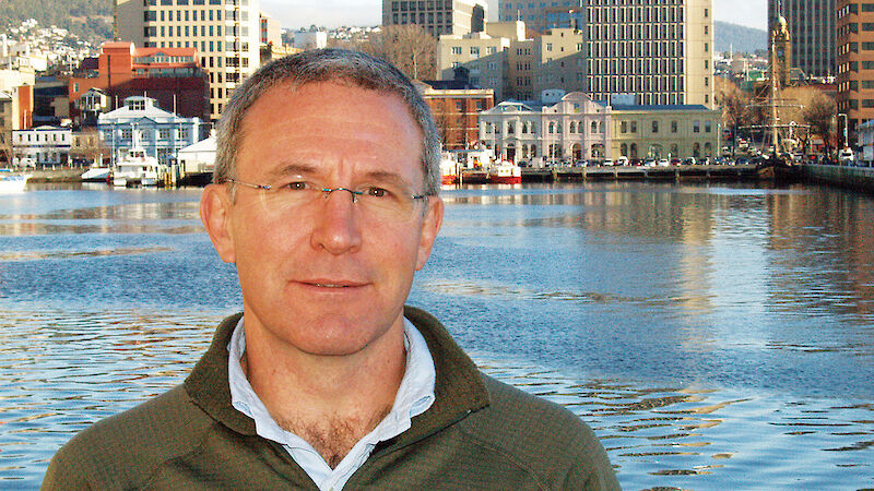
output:
[[[334,189],[319,199],[310,238],[316,249],[331,254],[357,251],[362,244],[362,211],[346,189]]]

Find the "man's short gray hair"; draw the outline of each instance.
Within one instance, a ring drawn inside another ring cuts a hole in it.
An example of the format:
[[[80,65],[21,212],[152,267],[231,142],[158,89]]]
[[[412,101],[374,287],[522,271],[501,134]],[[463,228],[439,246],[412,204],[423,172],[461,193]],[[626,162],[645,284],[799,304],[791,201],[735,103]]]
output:
[[[424,135],[424,192],[437,195],[440,189],[440,137],[425,99],[410,79],[388,61],[344,49],[316,49],[273,60],[258,69],[234,91],[216,129],[213,182],[227,182],[236,177],[237,152],[243,141],[243,119],[249,107],[279,84],[291,83],[294,91],[312,82],[343,82],[399,96]]]

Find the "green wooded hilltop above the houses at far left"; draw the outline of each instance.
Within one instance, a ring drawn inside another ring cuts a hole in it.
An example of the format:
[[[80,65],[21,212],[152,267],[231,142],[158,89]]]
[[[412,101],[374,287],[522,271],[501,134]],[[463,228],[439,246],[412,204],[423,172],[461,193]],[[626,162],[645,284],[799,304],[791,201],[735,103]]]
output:
[[[0,0],[0,32],[35,19],[39,27],[66,28],[84,40],[113,37],[113,0]]]

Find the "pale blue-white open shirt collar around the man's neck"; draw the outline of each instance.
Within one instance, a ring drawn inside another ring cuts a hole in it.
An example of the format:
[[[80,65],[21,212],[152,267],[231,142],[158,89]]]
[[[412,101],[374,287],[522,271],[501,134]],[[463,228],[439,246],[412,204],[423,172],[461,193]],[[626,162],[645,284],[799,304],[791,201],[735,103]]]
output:
[[[350,477],[362,466],[377,443],[394,438],[410,429],[412,418],[425,412],[434,404],[434,384],[437,378],[434,359],[422,333],[406,319],[403,320],[406,370],[404,371],[391,411],[366,434],[349,455],[331,469],[319,453],[302,438],[285,431],[273,420],[261,399],[243,373],[240,359],[246,351],[244,320],[240,318],[227,344],[228,381],[234,408],[255,420],[256,431],[262,438],[281,444],[309,475],[319,489],[342,489]]]

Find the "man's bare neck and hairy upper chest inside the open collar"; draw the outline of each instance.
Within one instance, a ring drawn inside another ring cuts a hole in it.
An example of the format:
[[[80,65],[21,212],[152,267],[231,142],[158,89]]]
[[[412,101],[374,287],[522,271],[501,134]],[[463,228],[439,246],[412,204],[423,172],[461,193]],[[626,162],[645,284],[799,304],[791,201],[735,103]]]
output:
[[[240,360],[271,417],[333,468],[391,410],[405,369],[403,319],[366,349],[314,356],[246,330]]]

